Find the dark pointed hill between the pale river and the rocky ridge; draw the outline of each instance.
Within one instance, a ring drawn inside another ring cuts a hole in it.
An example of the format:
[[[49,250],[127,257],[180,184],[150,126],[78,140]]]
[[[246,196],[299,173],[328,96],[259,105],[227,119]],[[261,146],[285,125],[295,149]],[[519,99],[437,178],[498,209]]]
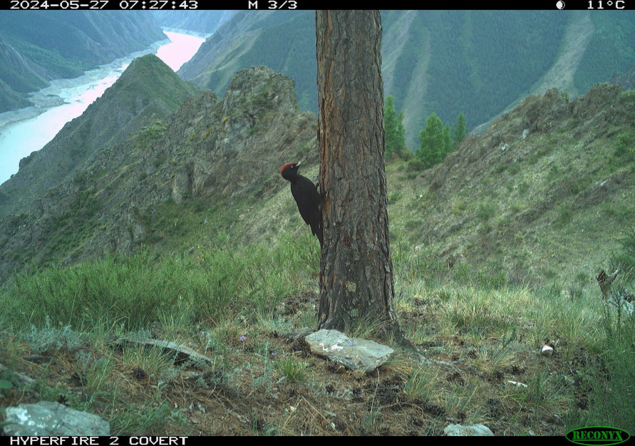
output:
[[[20,161],[18,173],[0,186],[0,218],[27,211],[46,190],[72,178],[99,150],[138,129],[145,116],[170,115],[196,92],[156,56],[133,60],[84,114],[68,122],[42,150]]]

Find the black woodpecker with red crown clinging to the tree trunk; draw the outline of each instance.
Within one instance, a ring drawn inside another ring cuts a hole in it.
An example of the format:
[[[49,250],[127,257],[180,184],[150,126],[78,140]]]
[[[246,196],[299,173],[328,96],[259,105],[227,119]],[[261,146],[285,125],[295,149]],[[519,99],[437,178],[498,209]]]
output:
[[[302,220],[311,226],[311,232],[318,237],[319,246],[324,244],[322,232],[322,200],[324,192],[318,192],[318,186],[309,178],[298,174],[299,162],[287,162],[280,167],[280,174],[284,180],[291,183],[291,195],[298,205]]]

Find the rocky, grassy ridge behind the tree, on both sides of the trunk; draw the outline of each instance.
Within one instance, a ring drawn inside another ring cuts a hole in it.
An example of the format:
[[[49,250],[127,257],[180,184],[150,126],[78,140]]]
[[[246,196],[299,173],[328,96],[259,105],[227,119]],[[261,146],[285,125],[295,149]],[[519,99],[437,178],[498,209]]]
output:
[[[618,86],[573,101],[551,89],[432,169],[389,162],[395,255],[501,283],[575,276],[592,286],[635,215],[634,110],[635,95]],[[306,233],[278,173],[289,161],[316,178],[316,118],[300,112],[291,79],[243,70],[222,100],[207,91],[170,117],[147,115],[36,207],[4,218],[0,275],[142,244],[187,256],[214,240],[231,249]]]

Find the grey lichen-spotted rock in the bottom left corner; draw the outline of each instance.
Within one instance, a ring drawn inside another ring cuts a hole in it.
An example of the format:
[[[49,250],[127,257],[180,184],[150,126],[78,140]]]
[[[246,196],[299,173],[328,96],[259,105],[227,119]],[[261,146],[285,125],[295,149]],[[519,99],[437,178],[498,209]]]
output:
[[[110,424],[95,414],[41,401],[6,408],[6,435],[110,435]]]

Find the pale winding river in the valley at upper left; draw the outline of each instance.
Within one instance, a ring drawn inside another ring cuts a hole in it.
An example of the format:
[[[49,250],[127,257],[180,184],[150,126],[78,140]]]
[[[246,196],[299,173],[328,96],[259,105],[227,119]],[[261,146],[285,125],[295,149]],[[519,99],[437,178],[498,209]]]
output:
[[[190,60],[204,37],[164,31],[170,39],[145,51],[117,59],[76,79],[57,79],[30,96],[33,107],[0,114],[0,183],[18,171],[20,159],[39,150],[64,127],[81,115],[105,89],[114,84],[135,57],[154,52],[177,71]],[[51,107],[51,105],[55,105]]]

